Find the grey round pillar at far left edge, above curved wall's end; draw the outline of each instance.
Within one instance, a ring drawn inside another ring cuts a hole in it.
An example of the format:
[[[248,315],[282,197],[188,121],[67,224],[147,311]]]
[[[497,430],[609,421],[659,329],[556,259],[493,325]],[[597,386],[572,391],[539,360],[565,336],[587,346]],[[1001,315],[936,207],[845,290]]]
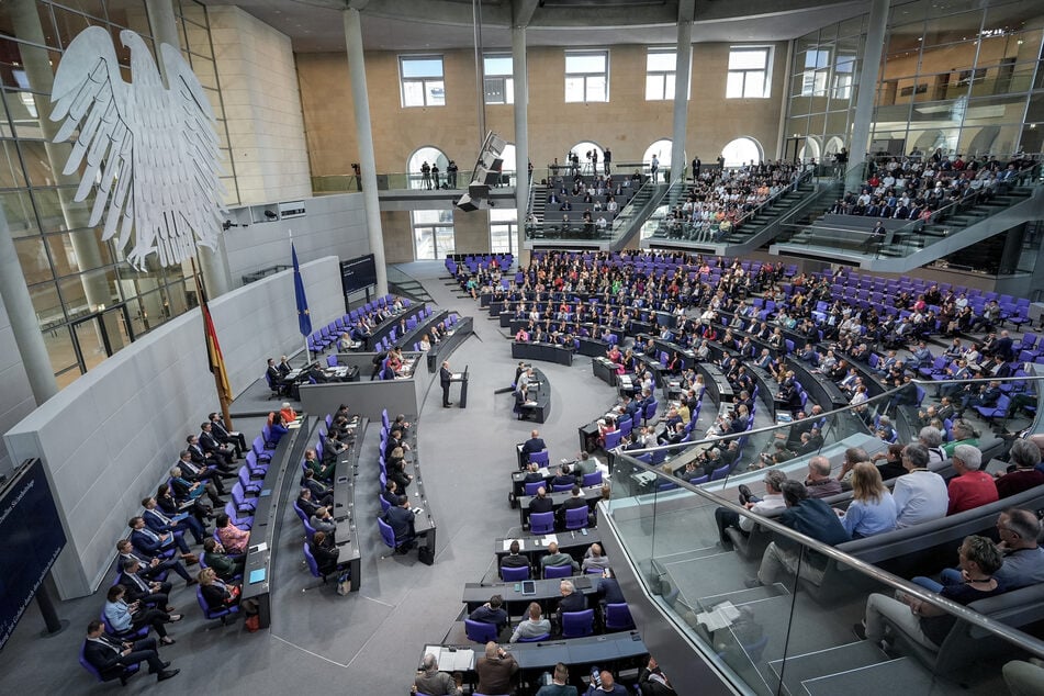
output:
[[[11,330],[14,333],[14,343],[19,347],[19,355],[29,378],[30,389],[36,405],[44,403],[58,393],[58,383],[55,381],[54,368],[47,356],[47,346],[44,336],[40,333],[40,323],[36,321],[36,311],[29,294],[25,276],[19,263],[19,255],[11,239],[11,229],[8,218],[0,207],[0,299],[11,319]]]

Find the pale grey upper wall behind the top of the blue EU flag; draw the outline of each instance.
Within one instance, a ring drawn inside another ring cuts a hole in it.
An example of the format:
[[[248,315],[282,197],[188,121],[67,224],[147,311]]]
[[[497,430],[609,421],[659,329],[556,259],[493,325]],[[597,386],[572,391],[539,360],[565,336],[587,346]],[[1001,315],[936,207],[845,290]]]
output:
[[[247,225],[229,227],[222,242],[234,287],[242,284],[244,273],[290,263],[288,231],[293,232],[302,263],[326,256],[350,259],[370,252],[361,193],[310,198],[304,200],[304,206],[303,216],[273,222],[265,220],[263,214],[254,215],[252,220],[260,222],[252,222],[250,209],[229,211],[233,221]],[[276,204],[260,207],[274,210]]]

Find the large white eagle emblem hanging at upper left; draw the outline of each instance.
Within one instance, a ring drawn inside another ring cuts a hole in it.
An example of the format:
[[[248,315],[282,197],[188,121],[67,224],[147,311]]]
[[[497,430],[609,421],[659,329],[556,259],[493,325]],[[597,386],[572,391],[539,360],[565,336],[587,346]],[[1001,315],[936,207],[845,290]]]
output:
[[[120,74],[104,29],[91,26],[69,44],[50,96],[50,120],[65,120],[54,142],[72,136],[66,176],[86,162],[75,200],[94,190],[89,224],[104,217],[102,239],[119,232],[135,268],[153,252],[173,266],[194,256],[197,244],[213,248],[224,218],[214,112],[177,48],[159,45],[165,86],[142,37],[124,30],[120,40],[131,50],[133,82]]]

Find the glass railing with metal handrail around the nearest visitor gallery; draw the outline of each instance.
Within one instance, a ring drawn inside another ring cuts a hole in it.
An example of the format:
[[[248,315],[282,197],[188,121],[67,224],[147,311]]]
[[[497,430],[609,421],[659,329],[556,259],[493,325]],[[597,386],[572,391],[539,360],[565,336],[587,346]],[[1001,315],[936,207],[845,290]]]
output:
[[[1040,413],[1039,379],[1004,382],[1012,389],[1021,382],[1023,393],[1033,394],[1026,404]],[[886,447],[865,426],[860,431],[858,424],[865,422],[867,409],[873,413],[896,394],[821,416],[824,442],[815,453],[832,463],[831,475],[839,473],[846,447],[862,447],[871,456]],[[793,425],[764,429],[760,440],[785,440]],[[1037,431],[1040,423],[1034,420],[1031,427]],[[998,552],[990,550],[991,541],[963,543],[972,535],[996,538],[998,516],[1009,503],[1036,519],[1033,510],[1044,501],[1044,486],[980,510],[845,541],[844,523],[834,521],[831,507],[846,508],[851,494],[808,502],[801,496],[815,494],[815,485],[787,483],[783,487],[788,512],[782,517],[755,515],[738,504],[741,483],[753,496],[767,493],[766,472],[742,464],[761,459],[754,456],[761,446],[754,434],[750,437],[752,451],[748,454],[743,448],[741,473],[698,485],[674,475],[674,467],[694,450],[720,448],[722,439],[689,445],[665,462],[666,468],[640,461],[631,452],[617,453],[610,464],[613,496],[602,504],[604,524],[619,537],[627,561],[678,632],[680,643],[695,646],[739,693],[905,689],[918,695],[992,696],[1008,693],[1002,677],[1007,663],[1044,658],[1044,642],[1032,635],[1032,625],[1044,617],[1044,586],[987,597],[989,580],[972,585],[965,580],[994,574],[981,569],[996,563]],[[812,456],[770,469],[805,482]],[[988,471],[995,465],[990,462]],[[865,473],[865,465],[857,471],[860,476]],[[804,529],[811,536],[787,526],[795,519],[806,520]],[[719,531],[722,524],[727,531]],[[828,539],[830,545],[823,543]],[[959,559],[958,547],[963,547]],[[979,560],[981,568],[970,565],[969,559]],[[617,566],[621,563],[614,561]],[[929,591],[929,583],[912,582],[959,563],[970,573],[955,574],[958,585],[976,599],[970,608]]]

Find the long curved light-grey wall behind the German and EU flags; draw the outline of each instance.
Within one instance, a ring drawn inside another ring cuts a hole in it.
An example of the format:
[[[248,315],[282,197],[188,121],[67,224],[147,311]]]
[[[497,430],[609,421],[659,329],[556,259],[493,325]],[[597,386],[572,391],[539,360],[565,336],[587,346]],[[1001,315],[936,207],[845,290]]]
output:
[[[343,314],[337,259],[301,270],[316,325]],[[289,271],[222,295],[211,312],[235,393],[261,377],[265,358],[302,345]],[[54,570],[63,599],[105,580],[127,519],[165,479],[186,435],[216,407],[200,313],[192,311],[109,358],[4,435],[15,461],[40,457],[50,478],[69,539]]]

